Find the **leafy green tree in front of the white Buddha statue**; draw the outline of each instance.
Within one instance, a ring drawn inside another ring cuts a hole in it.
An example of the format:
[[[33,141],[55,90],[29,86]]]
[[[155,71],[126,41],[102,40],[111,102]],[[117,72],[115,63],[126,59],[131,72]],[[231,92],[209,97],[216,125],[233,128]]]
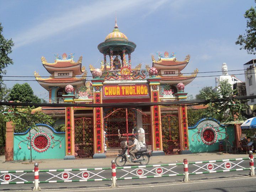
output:
[[[209,95],[204,97],[206,100],[220,99],[219,102],[210,102],[208,104],[206,117],[217,119],[221,123],[245,120],[243,112],[247,105],[235,98],[228,80],[220,81],[219,86],[216,92],[211,91]],[[229,99],[229,97],[232,97],[232,99]]]

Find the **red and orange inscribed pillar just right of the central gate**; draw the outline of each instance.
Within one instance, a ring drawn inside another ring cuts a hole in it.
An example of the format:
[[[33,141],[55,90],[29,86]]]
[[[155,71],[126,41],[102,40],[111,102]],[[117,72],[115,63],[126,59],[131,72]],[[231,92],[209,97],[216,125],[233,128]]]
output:
[[[149,78],[151,91],[151,102],[159,102],[159,85],[161,78]],[[151,113],[151,133],[152,133],[152,156],[165,155],[162,149],[162,127],[160,106],[150,107]]]

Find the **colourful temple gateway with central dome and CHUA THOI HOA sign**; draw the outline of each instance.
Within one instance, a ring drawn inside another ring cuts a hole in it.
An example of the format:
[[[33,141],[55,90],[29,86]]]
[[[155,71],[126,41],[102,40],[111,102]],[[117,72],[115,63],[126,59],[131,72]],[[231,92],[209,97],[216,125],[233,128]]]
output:
[[[55,55],[54,63],[42,57],[50,73],[38,83],[49,91],[47,103],[110,104],[105,107],[43,108],[48,114],[59,114],[65,122],[64,159],[105,158],[115,155],[130,135],[147,146],[151,155],[191,153],[188,139],[187,106],[168,107],[165,102],[187,99],[185,86],[196,77],[181,71],[190,55],[178,61],[176,54],[152,55],[152,65],[133,65],[131,54],[136,44],[119,31],[117,21],[105,40],[98,44],[102,53],[100,66],[89,65],[92,75],[82,67],[82,56],[74,62],[74,54]],[[162,102],[163,105],[136,105]],[[116,107],[114,103],[133,103]],[[33,135],[32,135],[33,136]],[[50,158],[50,157],[49,157]],[[58,156],[59,158],[59,156]]]

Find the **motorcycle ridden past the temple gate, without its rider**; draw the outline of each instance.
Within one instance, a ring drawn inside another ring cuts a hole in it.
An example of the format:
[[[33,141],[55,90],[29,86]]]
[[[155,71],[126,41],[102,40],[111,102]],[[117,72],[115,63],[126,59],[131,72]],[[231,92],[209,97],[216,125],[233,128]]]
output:
[[[132,156],[130,156],[127,152],[128,150],[128,146],[126,146],[124,148],[124,150],[122,151],[121,154],[118,154],[117,158],[116,158],[116,165],[117,166],[124,166],[126,164],[126,162],[130,162],[130,163],[137,163],[139,162],[141,165],[148,165],[149,163],[149,159],[150,158],[150,154],[147,152],[147,149],[141,149],[139,150],[137,153],[135,153],[135,157],[137,160],[132,160]]]

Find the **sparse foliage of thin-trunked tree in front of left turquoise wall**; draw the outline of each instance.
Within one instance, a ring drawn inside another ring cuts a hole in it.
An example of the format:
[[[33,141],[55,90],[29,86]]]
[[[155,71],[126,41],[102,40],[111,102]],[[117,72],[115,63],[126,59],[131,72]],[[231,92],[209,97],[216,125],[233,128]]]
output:
[[[34,107],[25,108],[10,108],[9,113],[5,116],[5,121],[12,121],[15,125],[15,133],[23,133],[28,128],[36,127],[37,123],[51,124],[53,119],[51,116],[44,114],[41,111],[32,113]]]

